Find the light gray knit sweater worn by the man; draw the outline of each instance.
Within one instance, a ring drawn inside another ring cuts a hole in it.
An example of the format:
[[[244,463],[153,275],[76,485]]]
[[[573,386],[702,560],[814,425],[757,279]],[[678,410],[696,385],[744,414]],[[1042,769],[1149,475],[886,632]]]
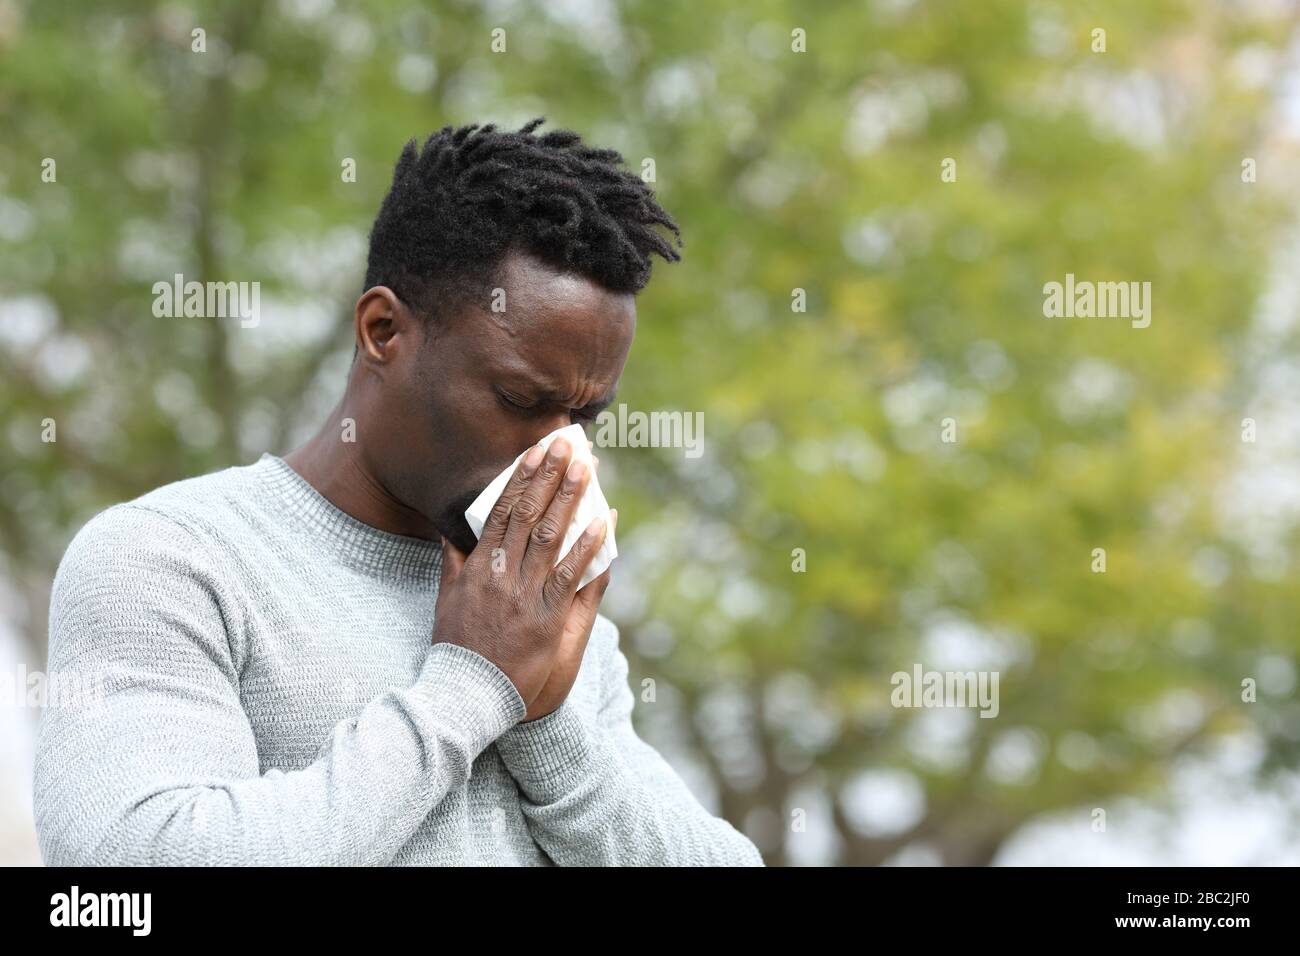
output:
[[[55,579],[35,816],[51,865],[762,865],[632,726],[598,617],[568,698],[432,644],[437,544],[283,460],[92,519]]]

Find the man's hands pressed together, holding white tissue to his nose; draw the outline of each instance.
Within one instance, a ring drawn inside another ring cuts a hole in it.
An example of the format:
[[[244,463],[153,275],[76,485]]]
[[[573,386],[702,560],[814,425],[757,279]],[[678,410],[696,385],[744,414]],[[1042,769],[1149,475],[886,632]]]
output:
[[[566,471],[571,449],[563,438],[545,457],[541,451],[534,446],[515,468],[472,554],[443,541],[433,624],[434,644],[469,648],[514,682],[528,706],[525,721],[550,713],[568,695],[608,584],[606,571],[576,597],[582,571],[604,541],[603,518],[555,563],[590,475],[581,462]]]

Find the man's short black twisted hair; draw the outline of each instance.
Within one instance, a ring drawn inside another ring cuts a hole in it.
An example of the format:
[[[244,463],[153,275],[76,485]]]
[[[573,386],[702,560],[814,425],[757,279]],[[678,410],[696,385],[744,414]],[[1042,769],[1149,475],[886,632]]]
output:
[[[650,280],[650,256],[681,256],[681,230],[615,150],[572,130],[534,135],[494,124],[445,126],[417,150],[402,150],[370,230],[365,287],[382,285],[419,311],[438,315],[469,297],[486,299],[502,259],[528,251],[618,293]]]

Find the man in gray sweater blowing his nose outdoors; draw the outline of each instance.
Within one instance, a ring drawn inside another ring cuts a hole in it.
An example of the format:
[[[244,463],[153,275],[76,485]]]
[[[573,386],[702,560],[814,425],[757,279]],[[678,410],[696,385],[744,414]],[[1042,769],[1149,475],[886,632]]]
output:
[[[633,730],[610,571],[576,587],[601,523],[556,564],[590,475],[536,442],[611,401],[680,234],[541,122],[407,144],[311,441],[72,542],[49,670],[104,695],[44,714],[47,862],[762,865]]]

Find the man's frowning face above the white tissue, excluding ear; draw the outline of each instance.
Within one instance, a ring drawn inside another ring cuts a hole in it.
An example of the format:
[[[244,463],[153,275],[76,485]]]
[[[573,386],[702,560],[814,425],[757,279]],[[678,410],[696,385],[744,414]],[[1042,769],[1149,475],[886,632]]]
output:
[[[636,333],[636,299],[511,254],[490,302],[432,319],[422,349],[386,376],[384,485],[467,554],[464,511],[515,458],[612,399]]]

